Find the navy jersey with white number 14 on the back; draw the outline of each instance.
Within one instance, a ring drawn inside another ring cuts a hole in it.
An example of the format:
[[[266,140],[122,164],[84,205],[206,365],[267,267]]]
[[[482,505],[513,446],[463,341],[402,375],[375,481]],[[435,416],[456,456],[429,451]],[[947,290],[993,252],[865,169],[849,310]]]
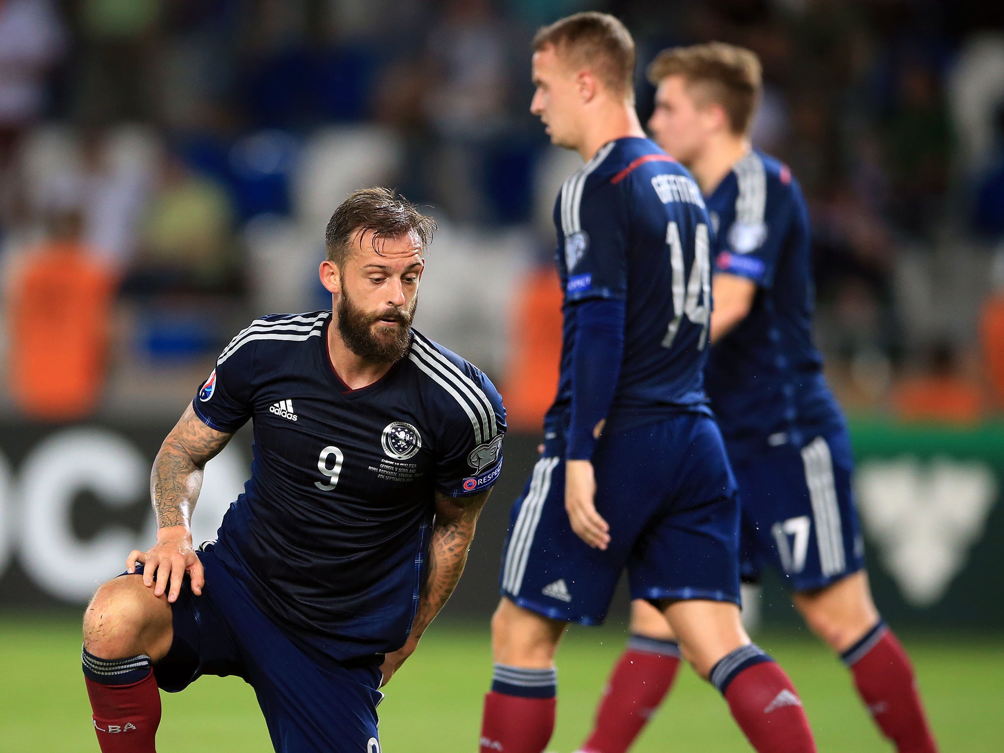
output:
[[[648,139],[603,146],[565,181],[554,207],[564,290],[557,398],[548,434],[565,432],[576,304],[625,304],[624,348],[606,431],[681,411],[708,412],[703,368],[711,308],[710,230],[700,189]]]

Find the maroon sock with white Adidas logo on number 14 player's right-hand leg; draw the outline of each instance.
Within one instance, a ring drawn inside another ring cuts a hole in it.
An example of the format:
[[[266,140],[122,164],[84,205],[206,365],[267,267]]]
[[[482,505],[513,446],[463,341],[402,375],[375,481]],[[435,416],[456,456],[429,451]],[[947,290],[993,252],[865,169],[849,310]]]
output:
[[[715,665],[710,679],[759,753],[815,753],[809,721],[794,686],[758,647],[736,649]]]

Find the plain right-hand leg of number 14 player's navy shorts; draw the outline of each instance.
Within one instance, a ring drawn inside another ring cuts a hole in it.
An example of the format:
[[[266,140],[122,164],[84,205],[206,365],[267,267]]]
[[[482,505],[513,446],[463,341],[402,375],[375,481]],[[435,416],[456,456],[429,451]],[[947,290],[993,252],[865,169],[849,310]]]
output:
[[[631,553],[632,596],[739,602],[739,507],[718,427],[680,422],[665,450],[670,474],[660,513]]]

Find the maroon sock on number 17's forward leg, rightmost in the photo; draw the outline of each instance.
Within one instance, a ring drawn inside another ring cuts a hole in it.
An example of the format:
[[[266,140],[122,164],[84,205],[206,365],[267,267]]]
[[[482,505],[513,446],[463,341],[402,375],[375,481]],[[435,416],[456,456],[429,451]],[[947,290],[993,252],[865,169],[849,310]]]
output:
[[[857,693],[899,753],[937,753],[910,658],[880,621],[842,655]]]

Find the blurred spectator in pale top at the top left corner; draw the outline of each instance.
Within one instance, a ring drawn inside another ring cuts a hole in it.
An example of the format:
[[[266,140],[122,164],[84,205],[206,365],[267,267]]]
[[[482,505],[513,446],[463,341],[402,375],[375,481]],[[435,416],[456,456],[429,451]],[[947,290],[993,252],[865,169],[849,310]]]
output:
[[[15,156],[45,108],[45,73],[65,48],[50,0],[0,2],[0,231],[23,211]]]

